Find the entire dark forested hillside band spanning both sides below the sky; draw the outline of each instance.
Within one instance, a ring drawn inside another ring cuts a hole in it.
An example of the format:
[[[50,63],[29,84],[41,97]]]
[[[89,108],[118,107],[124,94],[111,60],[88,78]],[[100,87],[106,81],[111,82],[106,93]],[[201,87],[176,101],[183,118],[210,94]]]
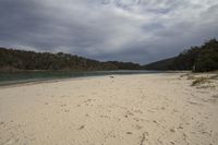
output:
[[[0,48],[0,71],[20,70],[193,70],[195,72],[207,72],[218,70],[218,41],[210,39],[202,46],[184,50],[177,57],[144,67],[132,62],[100,62],[63,52],[34,52]]]

